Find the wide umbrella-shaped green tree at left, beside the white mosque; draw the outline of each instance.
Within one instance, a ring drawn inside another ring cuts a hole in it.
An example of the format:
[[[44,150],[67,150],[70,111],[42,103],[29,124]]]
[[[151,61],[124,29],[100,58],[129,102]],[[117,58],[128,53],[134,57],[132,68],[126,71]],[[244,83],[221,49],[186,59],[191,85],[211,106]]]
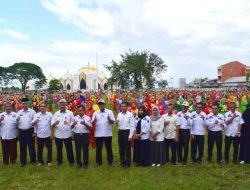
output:
[[[21,89],[25,93],[27,89],[27,84],[29,81],[33,80],[35,82],[36,88],[41,88],[46,84],[46,77],[43,74],[42,69],[33,63],[15,63],[7,68],[5,79],[18,80],[21,83]]]

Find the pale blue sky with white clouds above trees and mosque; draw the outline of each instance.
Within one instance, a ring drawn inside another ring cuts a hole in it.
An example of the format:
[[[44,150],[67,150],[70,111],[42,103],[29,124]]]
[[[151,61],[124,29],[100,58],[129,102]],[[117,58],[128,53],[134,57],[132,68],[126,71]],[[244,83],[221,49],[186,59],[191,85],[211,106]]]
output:
[[[249,0],[0,0],[0,65],[33,62],[47,75],[150,50],[164,78],[216,78],[218,65],[250,65]]]

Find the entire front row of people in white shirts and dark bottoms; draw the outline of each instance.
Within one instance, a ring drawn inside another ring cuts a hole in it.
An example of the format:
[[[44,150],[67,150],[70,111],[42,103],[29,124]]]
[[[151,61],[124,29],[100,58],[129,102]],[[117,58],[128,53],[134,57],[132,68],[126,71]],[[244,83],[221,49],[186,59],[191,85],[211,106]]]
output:
[[[11,112],[11,105],[5,103],[6,112],[0,115],[3,163],[14,164],[17,157],[17,136],[20,144],[21,166],[27,164],[27,147],[30,154],[30,163],[36,163],[34,137],[38,139],[38,164],[44,164],[43,147],[47,147],[47,163],[52,162],[52,140],[55,136],[57,165],[63,162],[62,148],[65,145],[67,159],[70,166],[74,165],[72,147],[72,131],[75,134],[75,152],[77,167],[87,168],[89,165],[89,136],[88,132],[95,125],[96,138],[96,166],[102,165],[102,147],[105,144],[108,164],[113,166],[112,151],[112,124],[118,126],[118,144],[121,167],[131,166],[131,141],[134,140],[133,160],[137,165],[161,166],[169,161],[171,149],[171,162],[187,163],[189,139],[191,136],[191,157],[193,162],[201,162],[204,153],[205,127],[208,125],[208,161],[212,159],[214,142],[217,146],[217,161],[222,160],[222,129],[226,128],[225,161],[229,161],[229,149],[233,141],[234,161],[238,161],[238,147],[241,124],[241,114],[235,111],[235,104],[231,103],[231,111],[226,117],[218,114],[218,106],[213,105],[213,113],[206,116],[202,112],[202,105],[197,104],[197,111],[188,113],[188,103],[183,103],[183,111],[177,115],[173,113],[174,106],[168,105],[168,114],[160,116],[159,109],[153,107],[152,116],[149,117],[144,107],[139,108],[138,116],[128,112],[127,104],[122,103],[122,111],[115,120],[111,110],[106,109],[104,100],[99,100],[99,110],[92,118],[84,115],[84,106],[78,108],[78,115],[66,110],[66,101],[59,101],[60,110],[54,116],[46,111],[46,104],[40,104],[39,113],[28,108],[29,100],[22,99],[24,108],[18,113]],[[236,127],[237,125],[237,127]],[[17,132],[18,129],[18,132]],[[198,157],[196,152],[198,149]],[[81,153],[83,151],[83,159]],[[183,153],[183,155],[182,155]],[[83,162],[82,162],[83,161]]]

